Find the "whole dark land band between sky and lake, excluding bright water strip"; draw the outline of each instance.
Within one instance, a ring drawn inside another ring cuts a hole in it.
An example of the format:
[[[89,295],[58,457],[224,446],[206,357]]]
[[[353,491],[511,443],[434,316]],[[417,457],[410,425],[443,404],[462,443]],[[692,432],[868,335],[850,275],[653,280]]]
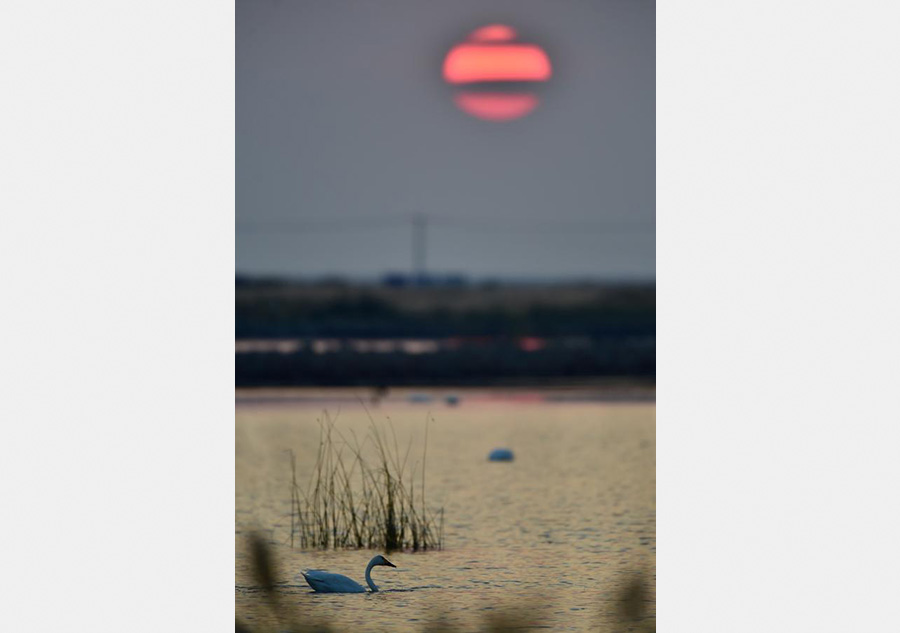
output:
[[[236,355],[239,386],[491,384],[655,375],[652,284],[236,284],[237,339],[456,339],[434,353]],[[541,339],[537,349],[524,337]]]

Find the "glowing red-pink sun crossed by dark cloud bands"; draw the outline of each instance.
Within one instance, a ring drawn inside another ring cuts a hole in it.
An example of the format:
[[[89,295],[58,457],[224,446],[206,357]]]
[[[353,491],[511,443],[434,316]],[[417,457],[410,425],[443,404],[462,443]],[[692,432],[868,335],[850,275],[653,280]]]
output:
[[[550,79],[550,58],[540,46],[516,41],[503,24],[482,26],[444,58],[444,81],[458,88],[454,102],[486,121],[512,121],[534,110],[534,92]],[[504,89],[498,89],[498,88]]]

